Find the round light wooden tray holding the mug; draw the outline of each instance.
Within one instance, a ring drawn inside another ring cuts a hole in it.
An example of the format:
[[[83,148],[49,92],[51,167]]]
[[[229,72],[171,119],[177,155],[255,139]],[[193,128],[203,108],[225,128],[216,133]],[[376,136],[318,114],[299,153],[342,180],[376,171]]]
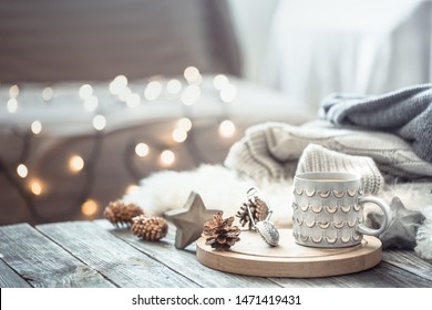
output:
[[[259,277],[312,278],[362,271],[380,264],[381,241],[363,236],[360,245],[320,249],[297,245],[291,229],[279,230],[279,246],[268,246],[256,231],[245,230],[240,241],[228,251],[216,251],[196,241],[196,256],[200,264],[220,271]]]

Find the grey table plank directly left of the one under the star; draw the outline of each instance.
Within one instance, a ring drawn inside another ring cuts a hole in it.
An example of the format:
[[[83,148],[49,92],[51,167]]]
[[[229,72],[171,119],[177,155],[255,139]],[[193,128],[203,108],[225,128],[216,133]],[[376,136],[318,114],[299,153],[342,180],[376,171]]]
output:
[[[120,287],[196,287],[90,221],[39,225],[37,228]]]

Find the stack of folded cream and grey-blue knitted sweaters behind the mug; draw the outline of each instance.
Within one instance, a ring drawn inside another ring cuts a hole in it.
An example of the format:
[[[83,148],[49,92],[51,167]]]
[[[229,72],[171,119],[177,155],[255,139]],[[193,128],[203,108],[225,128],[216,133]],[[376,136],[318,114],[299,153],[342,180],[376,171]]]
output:
[[[432,84],[380,96],[331,95],[321,104],[320,118],[304,126],[250,127],[225,165],[269,179],[292,177],[297,169],[353,169],[374,176],[378,184],[366,184],[370,193],[381,186],[378,170],[388,180],[432,179]]]

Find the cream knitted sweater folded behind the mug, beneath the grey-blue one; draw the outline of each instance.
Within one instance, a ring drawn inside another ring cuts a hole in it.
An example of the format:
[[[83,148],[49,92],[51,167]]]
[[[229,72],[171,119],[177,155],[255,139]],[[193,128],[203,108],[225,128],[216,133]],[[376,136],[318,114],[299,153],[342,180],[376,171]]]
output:
[[[432,178],[432,164],[420,158],[401,137],[320,121],[304,126],[253,126],[232,146],[225,165],[256,180],[292,177],[297,169],[354,172],[372,194],[383,184],[380,173],[388,178]]]

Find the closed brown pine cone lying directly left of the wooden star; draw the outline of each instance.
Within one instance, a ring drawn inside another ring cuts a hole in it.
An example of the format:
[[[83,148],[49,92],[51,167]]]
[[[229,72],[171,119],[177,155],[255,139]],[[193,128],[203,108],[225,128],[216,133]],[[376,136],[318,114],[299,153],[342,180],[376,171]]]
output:
[[[157,241],[168,232],[167,221],[158,216],[140,215],[133,218],[132,232],[148,241]]]

